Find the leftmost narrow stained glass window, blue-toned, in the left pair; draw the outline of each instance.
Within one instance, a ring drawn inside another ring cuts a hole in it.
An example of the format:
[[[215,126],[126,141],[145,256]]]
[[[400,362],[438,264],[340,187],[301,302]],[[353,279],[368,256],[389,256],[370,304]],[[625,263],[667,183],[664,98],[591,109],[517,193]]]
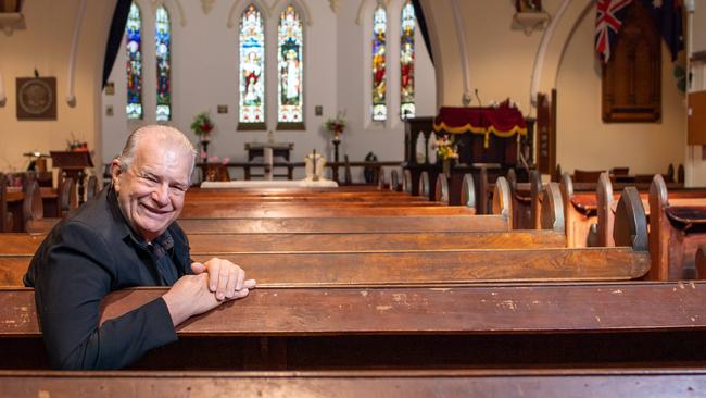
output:
[[[125,26],[127,69],[127,119],[142,119],[142,20],[133,2]]]

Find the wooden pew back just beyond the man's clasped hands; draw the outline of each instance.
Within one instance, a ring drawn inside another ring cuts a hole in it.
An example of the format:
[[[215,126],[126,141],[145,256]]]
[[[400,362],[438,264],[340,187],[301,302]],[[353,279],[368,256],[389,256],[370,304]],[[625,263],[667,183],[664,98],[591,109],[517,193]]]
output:
[[[425,251],[220,252],[264,286],[457,285],[488,282],[626,281],[650,271],[631,248]],[[194,254],[207,261],[213,253]],[[0,256],[0,286],[22,286],[31,256]]]

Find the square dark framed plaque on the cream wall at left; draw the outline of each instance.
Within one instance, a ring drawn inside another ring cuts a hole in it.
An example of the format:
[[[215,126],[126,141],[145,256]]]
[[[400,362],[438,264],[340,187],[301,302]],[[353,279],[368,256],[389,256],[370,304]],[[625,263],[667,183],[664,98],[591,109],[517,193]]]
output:
[[[17,120],[56,120],[56,77],[17,77]]]

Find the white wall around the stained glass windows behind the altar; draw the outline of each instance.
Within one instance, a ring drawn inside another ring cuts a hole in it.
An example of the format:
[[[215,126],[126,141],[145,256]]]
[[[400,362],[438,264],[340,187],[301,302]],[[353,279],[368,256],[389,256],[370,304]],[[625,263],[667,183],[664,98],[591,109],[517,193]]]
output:
[[[154,123],[155,73],[154,73],[154,9],[151,1],[137,0],[143,17],[143,102],[146,119],[142,122],[128,122],[125,116],[125,51],[121,50],[111,73],[110,80],[115,84],[115,95],[102,97],[103,102],[103,161],[109,162],[122,149],[127,134],[142,124]],[[330,134],[322,128],[328,117],[337,111],[345,110],[349,125],[342,136],[341,160],[348,153],[352,161],[363,160],[368,151],[374,151],[379,160],[401,161],[404,153],[404,125],[399,117],[399,21],[401,0],[390,2],[389,12],[389,113],[384,124],[369,122],[369,47],[371,1],[364,0],[363,9],[369,9],[362,24],[356,24],[361,2],[341,1],[335,13],[326,0],[303,0],[301,4],[308,11],[311,24],[305,25],[304,36],[304,122],[305,132],[275,132],[277,141],[294,142],[293,161],[300,161],[313,149],[324,151],[332,160]],[[187,133],[192,141],[197,138],[189,130],[196,113],[210,110],[216,124],[210,156],[220,159],[229,157],[232,161],[244,161],[244,142],[267,139],[265,132],[238,132],[238,47],[237,26],[239,13],[234,16],[234,27],[227,27],[228,14],[236,4],[242,10],[244,1],[218,1],[213,10],[204,14],[200,2],[179,0],[184,10],[186,25],[181,26],[176,11],[177,0],[167,0],[173,26],[173,121],[171,124]],[[275,130],[277,124],[277,74],[276,29],[279,11],[285,1],[266,1],[269,18],[266,20],[267,77],[266,120],[268,129]],[[434,71],[424,40],[418,33],[415,37],[417,115],[436,114]],[[217,114],[216,107],[227,104],[227,114]],[[105,107],[112,105],[113,116],[105,116]],[[323,105],[324,114],[314,114],[315,105]],[[303,175],[303,170],[299,170]],[[355,176],[354,176],[355,177]]]

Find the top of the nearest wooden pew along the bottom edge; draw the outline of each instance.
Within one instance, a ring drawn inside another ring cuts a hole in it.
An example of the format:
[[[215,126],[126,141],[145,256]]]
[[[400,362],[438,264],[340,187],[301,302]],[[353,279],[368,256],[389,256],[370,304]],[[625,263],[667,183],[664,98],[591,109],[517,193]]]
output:
[[[305,372],[0,371],[9,397],[691,397],[703,369],[377,370]]]

